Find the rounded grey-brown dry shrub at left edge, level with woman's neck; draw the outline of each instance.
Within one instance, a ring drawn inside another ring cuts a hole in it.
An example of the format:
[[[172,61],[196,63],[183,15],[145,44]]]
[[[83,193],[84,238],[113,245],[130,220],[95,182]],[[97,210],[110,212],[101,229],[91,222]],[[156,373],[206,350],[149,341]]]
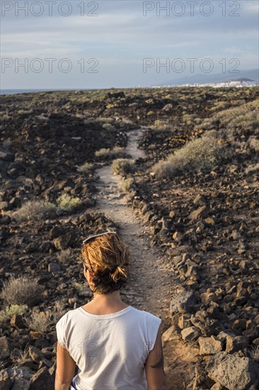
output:
[[[43,287],[30,277],[10,278],[4,282],[1,299],[8,305],[33,306],[40,301]]]

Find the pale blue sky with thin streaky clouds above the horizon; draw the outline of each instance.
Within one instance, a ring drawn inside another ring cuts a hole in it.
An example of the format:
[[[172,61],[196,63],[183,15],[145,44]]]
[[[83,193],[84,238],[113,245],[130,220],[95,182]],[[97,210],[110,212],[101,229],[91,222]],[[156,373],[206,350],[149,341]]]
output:
[[[257,0],[0,6],[1,89],[145,87],[259,67]]]

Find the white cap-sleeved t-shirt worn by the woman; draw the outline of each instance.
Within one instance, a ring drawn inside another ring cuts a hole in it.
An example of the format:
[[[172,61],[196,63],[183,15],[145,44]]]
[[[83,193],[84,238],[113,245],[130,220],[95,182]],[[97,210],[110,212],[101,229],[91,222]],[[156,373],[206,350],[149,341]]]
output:
[[[96,315],[79,307],[58,321],[57,340],[79,367],[79,390],[146,390],[144,364],[154,348],[161,319],[127,306]]]

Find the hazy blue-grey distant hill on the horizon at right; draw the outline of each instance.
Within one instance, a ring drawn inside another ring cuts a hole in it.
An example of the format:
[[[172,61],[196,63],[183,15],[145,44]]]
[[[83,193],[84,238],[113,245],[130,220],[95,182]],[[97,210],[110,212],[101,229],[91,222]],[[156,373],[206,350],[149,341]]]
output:
[[[235,77],[236,76],[236,77]],[[217,74],[193,74],[192,76],[181,77],[159,84],[159,86],[179,85],[179,84],[205,84],[211,82],[229,82],[238,81],[254,81],[259,83],[259,69],[241,70],[239,73],[217,73]]]

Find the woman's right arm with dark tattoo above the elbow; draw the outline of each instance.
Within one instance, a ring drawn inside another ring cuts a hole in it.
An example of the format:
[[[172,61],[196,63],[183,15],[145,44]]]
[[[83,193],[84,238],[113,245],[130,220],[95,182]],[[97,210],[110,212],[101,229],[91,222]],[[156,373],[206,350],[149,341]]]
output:
[[[148,390],[168,390],[166,374],[163,371],[161,325],[159,326],[154,348],[149,352],[146,359],[145,371]]]

